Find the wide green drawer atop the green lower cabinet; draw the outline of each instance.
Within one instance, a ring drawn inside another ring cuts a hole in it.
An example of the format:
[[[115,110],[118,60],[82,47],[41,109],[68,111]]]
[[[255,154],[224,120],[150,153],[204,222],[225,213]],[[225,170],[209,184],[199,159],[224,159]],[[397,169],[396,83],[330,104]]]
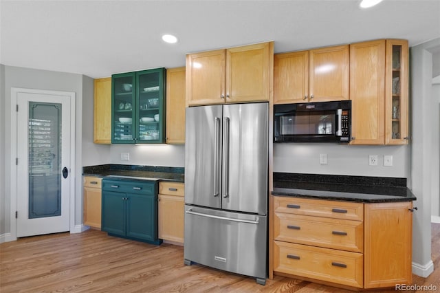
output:
[[[102,190],[114,191],[119,193],[155,195],[155,182],[102,180]]]

